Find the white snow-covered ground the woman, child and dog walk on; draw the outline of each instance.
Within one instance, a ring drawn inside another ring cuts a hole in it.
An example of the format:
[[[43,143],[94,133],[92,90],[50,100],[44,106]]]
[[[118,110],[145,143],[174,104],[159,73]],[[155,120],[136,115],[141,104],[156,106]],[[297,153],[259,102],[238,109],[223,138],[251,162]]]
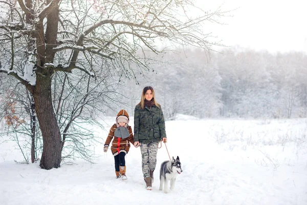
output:
[[[130,125],[133,127],[133,117]],[[106,138],[115,117],[105,120]],[[307,204],[307,119],[195,119],[166,121],[170,156],[183,173],[168,194],[159,191],[159,168],[168,160],[158,150],[153,190],[144,187],[141,153],[126,156],[128,180],[115,178],[114,158],[95,148],[96,163],[74,161],[42,170],[15,163],[21,154],[0,144],[0,204]]]

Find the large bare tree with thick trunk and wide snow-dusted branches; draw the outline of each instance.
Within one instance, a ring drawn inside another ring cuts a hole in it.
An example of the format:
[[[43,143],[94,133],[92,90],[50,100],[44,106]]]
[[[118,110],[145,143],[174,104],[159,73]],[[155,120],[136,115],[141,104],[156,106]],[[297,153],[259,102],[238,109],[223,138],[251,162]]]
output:
[[[43,169],[60,167],[64,143],[52,100],[55,73],[71,75],[77,69],[97,80],[97,72],[136,78],[152,60],[145,52],[136,55],[138,49],[161,53],[157,42],[167,40],[210,51],[215,43],[203,25],[225,14],[220,8],[198,9],[200,15],[190,18],[189,0],[9,0],[0,1],[0,7],[0,72],[18,79],[33,96]]]

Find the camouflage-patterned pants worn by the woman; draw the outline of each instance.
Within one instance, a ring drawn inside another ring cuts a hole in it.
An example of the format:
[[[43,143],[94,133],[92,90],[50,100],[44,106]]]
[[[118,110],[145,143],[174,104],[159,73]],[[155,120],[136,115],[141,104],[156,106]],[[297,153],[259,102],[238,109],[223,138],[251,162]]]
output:
[[[144,178],[149,177],[149,170],[155,170],[157,164],[158,142],[141,144],[142,171]]]

